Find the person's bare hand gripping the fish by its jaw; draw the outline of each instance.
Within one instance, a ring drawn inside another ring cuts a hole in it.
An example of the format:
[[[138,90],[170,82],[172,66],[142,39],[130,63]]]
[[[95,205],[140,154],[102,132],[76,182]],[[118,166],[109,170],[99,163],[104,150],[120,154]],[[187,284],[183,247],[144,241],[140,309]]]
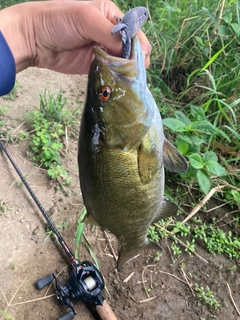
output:
[[[109,0],[27,2],[0,11],[0,30],[17,72],[37,66],[83,74],[89,71],[94,45],[121,56],[121,38],[111,35],[115,16],[121,18],[123,13]],[[151,45],[142,31],[137,35],[148,67]]]

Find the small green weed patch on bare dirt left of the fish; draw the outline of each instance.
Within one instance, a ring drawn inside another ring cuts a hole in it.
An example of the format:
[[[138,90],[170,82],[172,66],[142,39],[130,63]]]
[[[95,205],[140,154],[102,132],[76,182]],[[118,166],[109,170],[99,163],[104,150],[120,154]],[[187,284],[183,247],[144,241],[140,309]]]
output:
[[[67,128],[76,124],[76,114],[64,109],[67,100],[62,91],[51,94],[47,90],[40,94],[40,105],[33,112],[28,113],[28,122],[31,126],[30,152],[31,159],[47,169],[51,179],[62,179],[64,184],[71,183],[67,172],[61,167],[63,141],[67,144]]]

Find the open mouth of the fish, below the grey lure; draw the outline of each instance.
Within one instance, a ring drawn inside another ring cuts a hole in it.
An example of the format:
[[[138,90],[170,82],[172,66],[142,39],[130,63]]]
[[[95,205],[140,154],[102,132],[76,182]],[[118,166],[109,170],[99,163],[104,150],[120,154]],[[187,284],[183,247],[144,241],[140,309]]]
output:
[[[99,47],[93,48],[95,60],[105,65],[112,71],[123,76],[135,77],[141,70],[142,61],[144,63],[142,48],[137,37],[132,39],[132,50],[130,59],[111,56]]]

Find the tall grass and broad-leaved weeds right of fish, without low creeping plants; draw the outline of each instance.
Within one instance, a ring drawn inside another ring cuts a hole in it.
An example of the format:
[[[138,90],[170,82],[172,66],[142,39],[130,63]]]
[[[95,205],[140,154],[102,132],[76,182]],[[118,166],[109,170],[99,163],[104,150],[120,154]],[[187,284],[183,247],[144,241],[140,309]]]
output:
[[[239,188],[239,174],[229,172],[227,166],[239,162],[239,153],[236,158],[231,154],[240,149],[238,2],[115,3],[123,11],[148,7],[143,28],[152,43],[148,82],[166,117],[164,125],[190,163],[180,182],[188,181],[204,194],[219,178]],[[218,145],[231,148],[227,158],[223,159]],[[226,190],[222,196],[229,201],[232,194]]]

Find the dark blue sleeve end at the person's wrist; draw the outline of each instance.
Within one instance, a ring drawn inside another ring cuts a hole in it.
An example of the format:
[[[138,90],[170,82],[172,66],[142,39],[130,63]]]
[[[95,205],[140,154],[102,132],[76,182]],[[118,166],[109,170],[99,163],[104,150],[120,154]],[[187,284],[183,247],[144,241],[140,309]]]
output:
[[[0,31],[0,96],[9,93],[14,87],[16,65],[12,52]]]

